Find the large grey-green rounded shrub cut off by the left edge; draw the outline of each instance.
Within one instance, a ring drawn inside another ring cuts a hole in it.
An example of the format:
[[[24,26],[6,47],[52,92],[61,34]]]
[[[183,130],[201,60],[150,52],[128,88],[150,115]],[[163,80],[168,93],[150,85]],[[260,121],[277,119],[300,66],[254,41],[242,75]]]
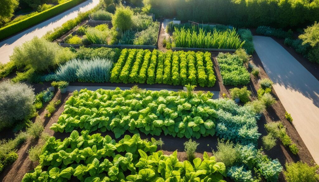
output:
[[[0,131],[11,127],[19,120],[26,119],[34,112],[34,92],[23,83],[0,83]]]

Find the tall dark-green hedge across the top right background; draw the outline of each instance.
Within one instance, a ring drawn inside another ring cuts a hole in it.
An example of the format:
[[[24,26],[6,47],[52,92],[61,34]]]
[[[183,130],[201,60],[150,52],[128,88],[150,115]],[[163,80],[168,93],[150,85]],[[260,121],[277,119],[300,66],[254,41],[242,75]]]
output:
[[[236,27],[284,28],[319,20],[319,0],[149,0],[156,16]]]

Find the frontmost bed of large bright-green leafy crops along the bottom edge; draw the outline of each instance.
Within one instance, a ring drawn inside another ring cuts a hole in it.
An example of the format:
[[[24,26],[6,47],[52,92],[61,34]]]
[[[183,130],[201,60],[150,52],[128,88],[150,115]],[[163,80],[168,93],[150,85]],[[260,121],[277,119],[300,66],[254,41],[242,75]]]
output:
[[[163,155],[162,151],[155,152],[157,146],[142,140],[138,134],[125,135],[118,143],[108,135],[90,136],[88,131],[81,134],[73,131],[63,142],[51,137],[42,150],[39,166],[33,173],[26,173],[22,182],[64,182],[71,177],[83,182],[225,182],[224,163],[216,162],[215,157],[208,157],[206,152],[203,161],[196,158],[192,164],[190,161],[179,162],[177,151],[170,156]]]

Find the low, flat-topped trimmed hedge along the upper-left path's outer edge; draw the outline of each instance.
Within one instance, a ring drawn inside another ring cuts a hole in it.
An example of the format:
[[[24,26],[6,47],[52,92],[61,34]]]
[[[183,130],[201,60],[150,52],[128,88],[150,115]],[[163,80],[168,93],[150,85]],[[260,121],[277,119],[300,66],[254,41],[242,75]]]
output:
[[[21,20],[19,22],[13,23],[11,25],[0,28],[0,40],[3,40],[11,35],[19,33],[33,25],[36,25],[48,18],[51,18],[63,11],[66,11],[77,4],[84,2],[85,0],[70,0],[63,4],[54,6],[46,11],[42,11],[34,16]]]

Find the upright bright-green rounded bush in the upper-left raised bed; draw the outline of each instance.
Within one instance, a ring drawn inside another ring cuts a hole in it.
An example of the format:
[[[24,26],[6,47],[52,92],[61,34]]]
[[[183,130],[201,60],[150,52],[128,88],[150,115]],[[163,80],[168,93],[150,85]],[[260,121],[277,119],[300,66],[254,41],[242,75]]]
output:
[[[115,28],[119,28],[122,32],[129,30],[133,25],[133,11],[130,7],[118,6],[116,7],[112,24]]]

